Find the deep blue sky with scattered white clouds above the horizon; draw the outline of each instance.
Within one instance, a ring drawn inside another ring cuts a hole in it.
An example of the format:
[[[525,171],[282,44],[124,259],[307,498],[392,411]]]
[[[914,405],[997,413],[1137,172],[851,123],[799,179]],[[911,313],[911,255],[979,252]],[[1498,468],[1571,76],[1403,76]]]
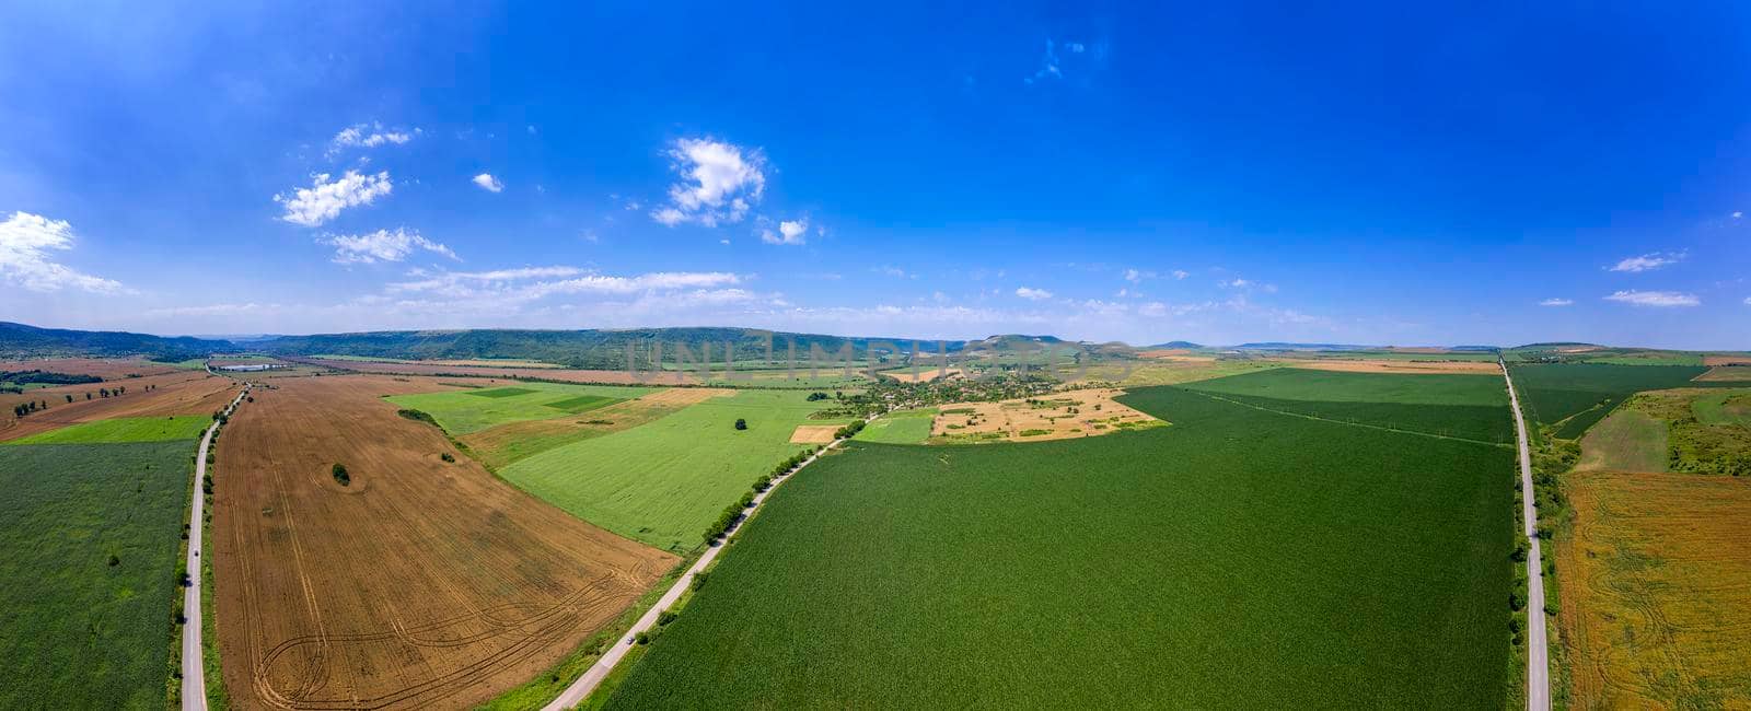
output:
[[[30,5],[5,320],[1751,347],[1742,5]]]

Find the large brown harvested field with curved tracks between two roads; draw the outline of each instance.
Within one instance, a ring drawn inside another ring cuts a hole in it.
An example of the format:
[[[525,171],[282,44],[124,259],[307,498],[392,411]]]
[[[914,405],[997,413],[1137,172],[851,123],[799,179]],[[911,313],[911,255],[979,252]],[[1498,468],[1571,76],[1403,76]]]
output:
[[[382,399],[441,387],[284,378],[226,426],[210,552],[233,706],[469,707],[545,672],[676,564],[506,485]]]

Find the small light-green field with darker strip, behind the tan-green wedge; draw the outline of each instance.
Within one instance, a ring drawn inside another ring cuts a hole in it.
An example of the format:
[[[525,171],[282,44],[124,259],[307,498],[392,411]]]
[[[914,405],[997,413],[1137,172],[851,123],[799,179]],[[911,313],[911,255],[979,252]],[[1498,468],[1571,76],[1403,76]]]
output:
[[[657,391],[655,387],[525,382],[515,387],[392,396],[389,401],[431,415],[450,434],[468,434],[506,422],[578,415]]]

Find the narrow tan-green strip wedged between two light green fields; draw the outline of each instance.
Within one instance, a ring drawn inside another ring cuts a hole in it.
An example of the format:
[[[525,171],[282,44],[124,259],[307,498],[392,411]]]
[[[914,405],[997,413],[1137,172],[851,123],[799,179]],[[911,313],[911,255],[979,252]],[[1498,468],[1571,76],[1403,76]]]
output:
[[[454,382],[445,382],[454,385]],[[497,468],[511,464],[560,445],[597,438],[622,429],[632,429],[681,412],[688,405],[711,398],[732,396],[723,387],[672,387],[625,403],[590,410],[583,415],[553,417],[546,420],[508,422],[497,427],[468,433],[457,440],[483,464]]]

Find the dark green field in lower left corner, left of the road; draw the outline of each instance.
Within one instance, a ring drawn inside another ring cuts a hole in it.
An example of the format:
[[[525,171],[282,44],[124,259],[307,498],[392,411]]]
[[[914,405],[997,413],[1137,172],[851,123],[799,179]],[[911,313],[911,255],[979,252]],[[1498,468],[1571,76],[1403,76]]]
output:
[[[161,709],[194,443],[0,447],[0,707]]]

